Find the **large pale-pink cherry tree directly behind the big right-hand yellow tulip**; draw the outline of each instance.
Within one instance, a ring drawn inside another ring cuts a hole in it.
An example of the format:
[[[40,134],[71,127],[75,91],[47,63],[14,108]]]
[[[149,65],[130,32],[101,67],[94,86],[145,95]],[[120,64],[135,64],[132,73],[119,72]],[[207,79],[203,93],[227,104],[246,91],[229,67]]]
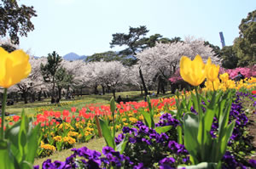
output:
[[[145,49],[137,54],[137,59],[139,59],[137,64],[154,73],[154,78],[158,79],[159,93],[160,87],[163,92],[165,91],[163,84],[175,74],[180,58],[185,55],[194,59],[196,54],[200,54],[205,61],[210,57],[214,64],[219,64],[221,61],[214,56],[212,48],[205,46],[202,39],[186,37],[184,42],[157,42],[154,48]]]

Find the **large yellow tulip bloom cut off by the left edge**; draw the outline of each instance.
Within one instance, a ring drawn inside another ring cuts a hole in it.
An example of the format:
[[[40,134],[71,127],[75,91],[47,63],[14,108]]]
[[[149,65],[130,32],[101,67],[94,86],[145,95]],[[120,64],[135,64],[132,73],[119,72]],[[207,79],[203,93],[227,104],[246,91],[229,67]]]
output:
[[[31,72],[28,60],[29,56],[22,50],[8,53],[0,48],[0,87],[9,88],[26,78]]]

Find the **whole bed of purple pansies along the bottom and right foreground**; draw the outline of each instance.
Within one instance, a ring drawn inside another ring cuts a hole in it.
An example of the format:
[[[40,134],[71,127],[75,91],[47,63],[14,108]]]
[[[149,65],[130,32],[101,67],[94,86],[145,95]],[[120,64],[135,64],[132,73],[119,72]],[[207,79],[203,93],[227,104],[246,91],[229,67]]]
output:
[[[241,158],[241,153],[250,155],[253,150],[252,147],[247,148],[250,142],[245,141],[249,138],[246,127],[250,114],[243,111],[241,106],[243,97],[250,97],[253,102],[256,95],[236,93],[236,98],[230,109],[230,121],[236,120],[236,126],[228,149],[222,158],[222,168],[255,167],[255,161],[244,158],[244,156]],[[191,109],[193,110],[193,107]],[[193,111],[197,114],[195,110]],[[145,126],[142,121],[137,121],[132,127],[123,127],[122,133],[115,138],[116,144],[119,144],[125,136],[128,136],[128,143],[122,155],[108,146],[102,149],[102,154],[84,147],[72,149],[73,155],[67,157],[66,161],[44,161],[42,168],[104,168],[110,166],[116,168],[121,166],[127,168],[177,168],[177,166],[191,165],[187,149],[183,144],[177,144],[175,128],[179,125],[179,121],[169,113],[161,115],[160,121],[156,124],[157,127],[172,126],[168,132],[158,133]],[[218,121],[215,118],[212,123],[212,138],[216,138],[214,135],[216,128],[218,128]]]

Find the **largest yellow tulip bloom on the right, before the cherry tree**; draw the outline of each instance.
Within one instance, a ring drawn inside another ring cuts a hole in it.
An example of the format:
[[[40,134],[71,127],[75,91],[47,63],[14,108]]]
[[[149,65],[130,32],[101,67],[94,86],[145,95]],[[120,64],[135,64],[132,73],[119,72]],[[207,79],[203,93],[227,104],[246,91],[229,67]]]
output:
[[[201,59],[201,56],[197,54],[195,59],[191,61],[186,56],[180,59],[180,75],[185,82],[193,86],[198,86],[206,79],[207,65],[205,65]]]

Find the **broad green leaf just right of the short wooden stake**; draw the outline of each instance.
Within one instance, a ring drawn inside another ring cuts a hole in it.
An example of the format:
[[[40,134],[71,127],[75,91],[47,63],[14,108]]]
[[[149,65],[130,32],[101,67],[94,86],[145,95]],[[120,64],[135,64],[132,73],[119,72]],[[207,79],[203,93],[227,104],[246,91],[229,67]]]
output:
[[[106,124],[105,121],[102,121],[102,119],[100,119],[100,125],[101,125],[101,128],[102,128],[102,135],[105,139],[106,144],[109,147],[112,147],[113,149],[115,149],[114,138],[111,135],[111,131],[108,128],[108,125]]]

